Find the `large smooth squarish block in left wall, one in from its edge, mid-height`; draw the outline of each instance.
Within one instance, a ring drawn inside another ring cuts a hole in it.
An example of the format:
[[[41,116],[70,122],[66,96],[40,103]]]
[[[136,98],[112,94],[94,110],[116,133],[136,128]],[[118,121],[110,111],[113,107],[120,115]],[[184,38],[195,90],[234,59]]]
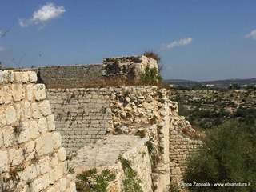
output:
[[[54,141],[50,134],[44,134],[35,140],[36,150],[39,155],[50,154],[54,151]]]

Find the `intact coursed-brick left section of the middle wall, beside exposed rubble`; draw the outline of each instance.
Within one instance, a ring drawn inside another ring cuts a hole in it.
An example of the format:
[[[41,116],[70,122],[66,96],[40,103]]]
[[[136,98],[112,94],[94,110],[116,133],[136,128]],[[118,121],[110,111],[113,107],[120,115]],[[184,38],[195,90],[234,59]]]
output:
[[[47,98],[68,154],[105,137],[110,124],[110,91],[50,89]]]

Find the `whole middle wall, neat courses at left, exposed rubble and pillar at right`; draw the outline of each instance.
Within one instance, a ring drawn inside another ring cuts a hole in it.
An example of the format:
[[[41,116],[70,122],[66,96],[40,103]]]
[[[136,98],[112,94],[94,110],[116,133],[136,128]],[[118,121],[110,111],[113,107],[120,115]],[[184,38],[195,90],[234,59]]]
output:
[[[156,86],[47,90],[56,129],[70,152],[106,137],[135,134],[149,137],[152,182],[155,191],[165,191],[170,182],[170,101],[166,90]]]

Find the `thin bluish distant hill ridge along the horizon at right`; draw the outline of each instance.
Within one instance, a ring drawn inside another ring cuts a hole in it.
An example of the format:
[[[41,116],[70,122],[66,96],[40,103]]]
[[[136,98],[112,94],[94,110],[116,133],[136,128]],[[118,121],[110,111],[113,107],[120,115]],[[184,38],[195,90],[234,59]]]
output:
[[[216,87],[227,87],[230,86],[230,84],[238,84],[238,86],[254,86],[256,85],[256,78],[234,78],[234,79],[225,79],[225,80],[215,80],[215,81],[190,81],[190,80],[184,80],[184,79],[167,79],[164,82],[174,84],[175,86],[195,86],[195,85],[206,85],[211,84]]]

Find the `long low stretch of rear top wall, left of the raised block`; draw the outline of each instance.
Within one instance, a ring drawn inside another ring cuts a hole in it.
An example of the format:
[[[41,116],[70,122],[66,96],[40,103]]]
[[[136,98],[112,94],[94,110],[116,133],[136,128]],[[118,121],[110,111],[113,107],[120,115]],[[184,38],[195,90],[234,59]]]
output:
[[[102,65],[45,66],[38,69],[39,81],[46,87],[79,87],[102,78]]]

